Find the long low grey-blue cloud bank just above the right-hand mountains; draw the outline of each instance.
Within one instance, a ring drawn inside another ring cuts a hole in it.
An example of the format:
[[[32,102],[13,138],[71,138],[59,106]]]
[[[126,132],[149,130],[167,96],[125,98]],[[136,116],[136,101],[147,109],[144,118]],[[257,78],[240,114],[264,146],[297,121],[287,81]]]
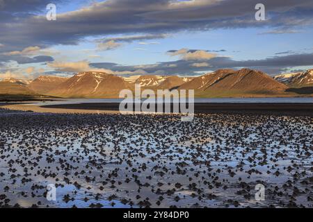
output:
[[[288,67],[312,66],[313,53],[311,54],[295,54],[289,56],[275,56],[263,60],[242,60],[236,61],[232,58],[216,57],[207,60],[209,66],[194,66],[194,61],[177,60],[174,62],[160,62],[154,65],[140,66],[141,69],[149,74],[163,75],[198,75],[199,71],[214,71],[216,69],[240,69],[247,67],[250,69],[258,69],[268,74],[279,74],[287,71]],[[138,66],[122,66],[115,63],[91,63],[90,66],[113,71],[136,71]],[[136,74],[136,73],[135,73]]]

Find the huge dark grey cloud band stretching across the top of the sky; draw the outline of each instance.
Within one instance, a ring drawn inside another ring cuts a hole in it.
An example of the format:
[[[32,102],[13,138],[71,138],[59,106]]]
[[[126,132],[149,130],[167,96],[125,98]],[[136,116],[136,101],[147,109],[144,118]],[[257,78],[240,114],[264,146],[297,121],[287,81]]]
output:
[[[6,3],[2,4],[4,10],[11,14],[23,11],[22,8],[26,12],[31,8],[42,8],[47,3],[35,0],[2,2]],[[262,22],[255,20],[257,3],[259,0],[108,0],[94,3],[89,10],[60,14],[56,21],[47,21],[45,16],[29,16],[0,22],[0,42],[11,48],[34,44],[44,47],[47,44],[77,44],[82,38],[94,35],[158,35],[185,30],[260,26],[275,31],[313,24],[312,0],[264,0],[267,19]],[[58,1],[56,4],[58,6]]]

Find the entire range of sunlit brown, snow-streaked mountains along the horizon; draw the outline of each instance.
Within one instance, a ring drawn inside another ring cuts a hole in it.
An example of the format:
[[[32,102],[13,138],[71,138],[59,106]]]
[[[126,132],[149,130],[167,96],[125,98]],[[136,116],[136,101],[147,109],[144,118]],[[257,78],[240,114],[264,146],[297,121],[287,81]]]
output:
[[[252,69],[219,69],[198,77],[129,76],[86,71],[70,78],[39,76],[35,80],[6,78],[0,81],[0,94],[46,95],[64,98],[118,98],[122,89],[195,89],[197,97],[297,96],[291,88],[313,86],[313,69],[272,78]],[[311,96],[313,94],[310,93]]]

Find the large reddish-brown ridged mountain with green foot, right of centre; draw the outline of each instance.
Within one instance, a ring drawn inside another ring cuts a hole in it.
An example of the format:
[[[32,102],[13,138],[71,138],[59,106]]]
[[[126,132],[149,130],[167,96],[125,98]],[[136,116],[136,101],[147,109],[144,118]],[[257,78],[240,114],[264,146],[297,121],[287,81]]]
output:
[[[179,89],[195,89],[198,96],[270,96],[285,94],[287,86],[262,71],[220,69],[194,78]]]

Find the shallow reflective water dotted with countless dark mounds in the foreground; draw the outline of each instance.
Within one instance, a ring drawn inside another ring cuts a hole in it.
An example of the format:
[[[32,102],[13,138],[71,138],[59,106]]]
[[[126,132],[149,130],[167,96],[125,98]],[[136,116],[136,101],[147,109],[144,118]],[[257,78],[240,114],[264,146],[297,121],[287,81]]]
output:
[[[198,114],[183,123],[170,114],[0,110],[0,123],[0,206],[313,204],[311,117]],[[49,184],[56,201],[45,198]]]

